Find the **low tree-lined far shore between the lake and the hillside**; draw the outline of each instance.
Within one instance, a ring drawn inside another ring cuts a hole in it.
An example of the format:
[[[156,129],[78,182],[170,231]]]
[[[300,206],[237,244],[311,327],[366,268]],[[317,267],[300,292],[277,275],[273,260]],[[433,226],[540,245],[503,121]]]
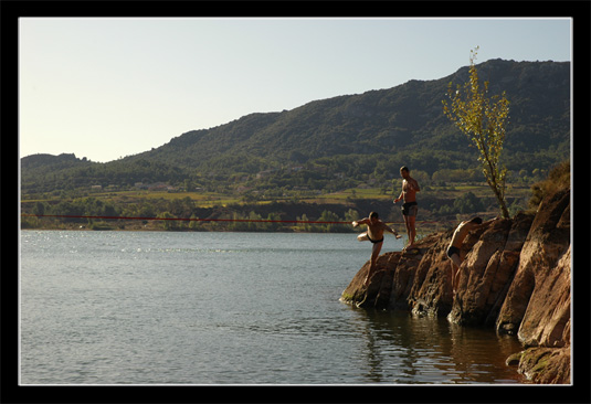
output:
[[[494,200],[477,198],[472,192],[462,193],[455,200],[421,195],[421,220],[442,220],[456,214],[469,214],[495,209]],[[150,228],[170,231],[305,231],[305,232],[352,232],[347,224],[304,224],[304,223],[256,223],[256,222],[215,222],[201,220],[250,220],[250,221],[304,221],[304,222],[352,222],[367,216],[371,211],[380,212],[386,221],[400,222],[400,206],[390,200],[355,200],[346,203],[233,203],[225,206],[197,206],[189,198],[149,199],[135,202],[105,201],[95,196],[75,198],[50,203],[45,201],[23,202],[22,213],[33,215],[60,216],[103,216],[103,217],[146,217],[130,223],[126,220],[85,219],[85,217],[35,217],[22,216],[22,228],[60,228],[73,225],[87,228],[137,228],[150,224]],[[521,209],[524,203],[516,209]],[[193,221],[157,221],[149,217],[192,219]]]

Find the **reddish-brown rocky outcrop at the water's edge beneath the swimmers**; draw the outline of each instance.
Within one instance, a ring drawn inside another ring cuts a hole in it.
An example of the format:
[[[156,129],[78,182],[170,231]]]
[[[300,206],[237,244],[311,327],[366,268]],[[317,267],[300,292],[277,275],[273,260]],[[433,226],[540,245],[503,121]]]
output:
[[[534,382],[570,383],[570,189],[548,195],[535,214],[495,219],[471,233],[455,296],[445,254],[452,234],[422,238],[418,254],[383,254],[365,287],[368,262],[341,300],[515,334],[525,350],[508,363]]]

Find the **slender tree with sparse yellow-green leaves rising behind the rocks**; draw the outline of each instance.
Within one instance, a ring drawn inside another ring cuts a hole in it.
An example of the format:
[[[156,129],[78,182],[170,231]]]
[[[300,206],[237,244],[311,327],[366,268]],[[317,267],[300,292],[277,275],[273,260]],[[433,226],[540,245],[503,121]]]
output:
[[[503,217],[509,217],[505,201],[505,179],[507,168],[500,163],[500,152],[505,141],[505,126],[509,118],[509,102],[505,92],[500,96],[488,95],[488,82],[483,88],[478,72],[474,65],[478,47],[469,51],[469,79],[463,85],[447,87],[447,100],[443,100],[443,111],[474,146],[478,148],[478,161],[482,164],[486,182],[493,190]]]

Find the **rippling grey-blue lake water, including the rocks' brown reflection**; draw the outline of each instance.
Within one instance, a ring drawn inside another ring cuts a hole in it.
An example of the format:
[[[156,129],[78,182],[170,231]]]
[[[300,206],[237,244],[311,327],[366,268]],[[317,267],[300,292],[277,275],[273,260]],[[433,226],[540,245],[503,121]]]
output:
[[[21,383],[521,382],[515,338],[340,302],[369,255],[355,234],[23,231]]]

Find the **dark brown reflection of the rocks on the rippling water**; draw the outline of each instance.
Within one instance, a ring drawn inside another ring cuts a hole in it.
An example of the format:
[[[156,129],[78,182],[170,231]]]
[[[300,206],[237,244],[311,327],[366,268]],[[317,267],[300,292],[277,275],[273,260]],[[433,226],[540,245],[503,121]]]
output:
[[[360,354],[369,383],[515,384],[524,382],[505,364],[521,350],[518,340],[494,331],[452,325],[441,318],[351,308],[353,327],[366,341]]]

